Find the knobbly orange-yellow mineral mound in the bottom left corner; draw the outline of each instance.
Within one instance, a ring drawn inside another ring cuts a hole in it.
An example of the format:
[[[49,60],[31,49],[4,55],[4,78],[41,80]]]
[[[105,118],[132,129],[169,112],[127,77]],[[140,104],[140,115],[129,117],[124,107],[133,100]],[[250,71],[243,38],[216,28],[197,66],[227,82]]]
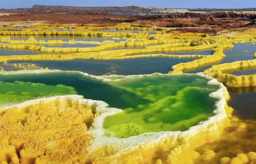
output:
[[[0,113],[0,161],[88,162],[84,149],[93,138],[87,132],[94,118],[91,109],[56,100]]]

